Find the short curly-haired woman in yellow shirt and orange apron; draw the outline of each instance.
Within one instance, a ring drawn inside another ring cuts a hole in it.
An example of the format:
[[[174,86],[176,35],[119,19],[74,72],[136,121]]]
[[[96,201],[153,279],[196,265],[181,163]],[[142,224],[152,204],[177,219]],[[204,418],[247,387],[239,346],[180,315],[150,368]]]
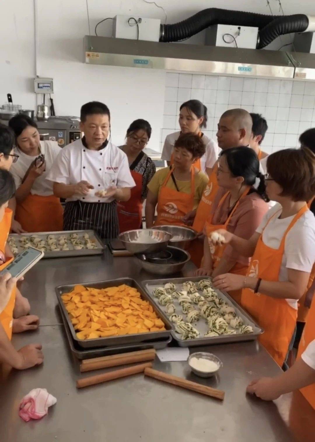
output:
[[[148,185],[146,227],[153,225],[184,226],[184,216],[198,205],[208,177],[194,167],[205,152],[198,135],[183,134],[174,146],[174,166],[156,172]],[[155,207],[157,219],[154,222]]]

